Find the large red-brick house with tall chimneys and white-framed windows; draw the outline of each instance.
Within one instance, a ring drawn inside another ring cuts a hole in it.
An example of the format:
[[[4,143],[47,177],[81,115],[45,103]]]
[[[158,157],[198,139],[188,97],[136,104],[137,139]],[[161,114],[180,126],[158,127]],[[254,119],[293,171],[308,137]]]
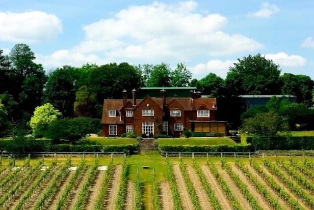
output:
[[[216,119],[216,98],[201,98],[200,92],[190,91],[190,97],[167,97],[166,90],[160,90],[160,98],[147,95],[123,99],[105,99],[103,109],[103,135],[120,136],[132,131],[141,134],[168,134],[180,136],[184,129],[194,132],[226,134],[226,121]]]

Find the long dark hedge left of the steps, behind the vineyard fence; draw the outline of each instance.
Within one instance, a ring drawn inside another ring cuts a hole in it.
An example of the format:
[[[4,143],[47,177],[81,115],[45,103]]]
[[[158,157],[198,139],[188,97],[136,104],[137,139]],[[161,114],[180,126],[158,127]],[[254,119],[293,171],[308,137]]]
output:
[[[112,152],[112,151],[129,151],[134,153],[138,150],[136,145],[71,145],[71,144],[52,144],[51,140],[1,140],[0,151],[14,152]]]

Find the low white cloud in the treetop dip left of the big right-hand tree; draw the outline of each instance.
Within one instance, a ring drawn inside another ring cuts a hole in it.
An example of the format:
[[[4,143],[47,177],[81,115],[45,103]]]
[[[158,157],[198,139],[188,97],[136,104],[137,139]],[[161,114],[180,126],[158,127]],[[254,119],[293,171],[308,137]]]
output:
[[[236,60],[209,60],[206,64],[199,63],[192,67],[192,73],[196,78],[204,78],[209,73],[226,78],[229,67],[233,66],[235,62]]]

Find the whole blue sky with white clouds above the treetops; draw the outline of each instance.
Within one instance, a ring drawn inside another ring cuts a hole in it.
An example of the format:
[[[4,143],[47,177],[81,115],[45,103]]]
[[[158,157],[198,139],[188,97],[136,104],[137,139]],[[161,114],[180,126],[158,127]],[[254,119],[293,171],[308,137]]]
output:
[[[46,71],[183,62],[196,79],[260,53],[314,80],[313,20],[314,0],[0,0],[0,49],[27,44]]]

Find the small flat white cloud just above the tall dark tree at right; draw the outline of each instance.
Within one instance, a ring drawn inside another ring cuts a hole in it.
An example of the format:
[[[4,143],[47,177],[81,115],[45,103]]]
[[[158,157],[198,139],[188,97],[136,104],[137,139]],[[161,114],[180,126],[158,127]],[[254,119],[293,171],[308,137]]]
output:
[[[271,59],[282,67],[304,66],[306,59],[301,56],[288,55],[286,53],[266,54],[266,59]]]

